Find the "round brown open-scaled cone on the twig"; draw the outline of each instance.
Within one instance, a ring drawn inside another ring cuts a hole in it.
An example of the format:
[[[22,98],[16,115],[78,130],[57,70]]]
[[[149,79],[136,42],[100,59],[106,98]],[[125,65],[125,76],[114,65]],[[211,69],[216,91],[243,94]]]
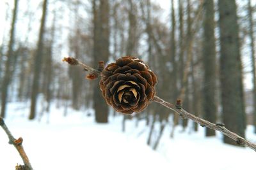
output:
[[[136,57],[122,57],[102,71],[100,90],[106,102],[125,114],[147,108],[155,95],[156,75]]]

